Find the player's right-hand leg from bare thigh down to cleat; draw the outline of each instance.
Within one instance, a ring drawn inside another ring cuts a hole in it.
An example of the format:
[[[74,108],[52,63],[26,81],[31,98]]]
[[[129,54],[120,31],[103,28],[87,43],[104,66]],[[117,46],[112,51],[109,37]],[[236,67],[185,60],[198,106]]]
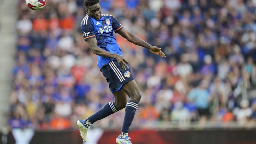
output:
[[[123,85],[122,91],[129,96],[130,100],[126,104],[122,131],[120,136],[116,138],[116,144],[131,144],[131,141],[129,140],[130,137],[128,136],[128,130],[141,99],[141,93],[135,80],[131,80]]]

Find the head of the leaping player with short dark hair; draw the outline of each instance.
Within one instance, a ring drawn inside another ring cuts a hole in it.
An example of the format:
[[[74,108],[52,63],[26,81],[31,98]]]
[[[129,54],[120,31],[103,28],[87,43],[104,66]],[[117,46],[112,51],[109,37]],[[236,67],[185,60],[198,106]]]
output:
[[[96,19],[99,20],[100,19],[100,15],[101,15],[101,7],[99,4],[99,0],[84,0],[84,6],[85,6],[85,10],[87,12],[87,14]]]

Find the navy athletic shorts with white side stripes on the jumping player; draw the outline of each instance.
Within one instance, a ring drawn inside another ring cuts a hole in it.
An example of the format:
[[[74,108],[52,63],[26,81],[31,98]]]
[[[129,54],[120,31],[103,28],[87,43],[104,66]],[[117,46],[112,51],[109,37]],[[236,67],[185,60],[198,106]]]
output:
[[[128,66],[128,64],[126,65]],[[120,90],[124,84],[134,79],[130,66],[128,67],[129,69],[126,67],[124,70],[116,60],[111,60],[109,64],[101,68],[100,71],[109,83],[111,92]]]

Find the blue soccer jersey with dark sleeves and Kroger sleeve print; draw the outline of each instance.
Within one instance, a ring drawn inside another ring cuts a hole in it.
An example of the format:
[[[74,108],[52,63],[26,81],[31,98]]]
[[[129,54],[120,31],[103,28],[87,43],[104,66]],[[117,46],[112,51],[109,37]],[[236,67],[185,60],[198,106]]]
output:
[[[86,15],[81,22],[81,30],[83,32],[83,39],[85,41],[96,38],[98,47],[115,54],[123,56],[119,45],[116,42],[116,38],[113,34],[122,30],[122,25],[117,19],[111,15],[101,14],[99,20],[95,20]],[[98,67],[101,69],[103,66],[110,62],[110,58],[97,55]]]

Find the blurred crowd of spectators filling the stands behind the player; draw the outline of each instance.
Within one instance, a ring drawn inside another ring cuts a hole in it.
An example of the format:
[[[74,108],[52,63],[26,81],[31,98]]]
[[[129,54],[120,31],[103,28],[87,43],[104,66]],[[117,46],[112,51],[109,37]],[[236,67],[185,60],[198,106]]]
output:
[[[167,55],[115,34],[142,92],[132,127],[256,122],[256,0],[100,0],[102,13]],[[12,128],[67,129],[114,101],[80,30],[83,0],[17,9]],[[121,127],[124,110],[93,126]]]

